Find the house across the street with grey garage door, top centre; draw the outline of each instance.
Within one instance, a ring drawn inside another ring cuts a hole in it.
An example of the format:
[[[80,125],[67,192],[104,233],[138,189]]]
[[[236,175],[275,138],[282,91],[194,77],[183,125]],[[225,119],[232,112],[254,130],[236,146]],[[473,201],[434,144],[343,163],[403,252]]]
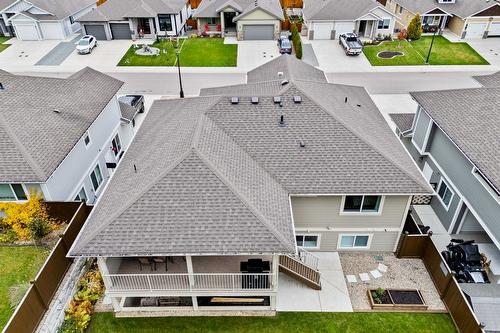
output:
[[[238,40],[277,39],[285,19],[279,0],[203,0],[193,17],[200,32]]]

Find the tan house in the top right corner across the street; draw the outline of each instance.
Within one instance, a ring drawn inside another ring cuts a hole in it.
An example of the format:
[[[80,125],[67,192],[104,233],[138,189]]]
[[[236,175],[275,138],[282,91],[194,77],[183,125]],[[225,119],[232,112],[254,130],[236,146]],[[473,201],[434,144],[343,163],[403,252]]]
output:
[[[398,17],[396,28],[407,27],[418,13],[422,24],[449,29],[461,38],[500,36],[500,3],[488,0],[387,0]]]

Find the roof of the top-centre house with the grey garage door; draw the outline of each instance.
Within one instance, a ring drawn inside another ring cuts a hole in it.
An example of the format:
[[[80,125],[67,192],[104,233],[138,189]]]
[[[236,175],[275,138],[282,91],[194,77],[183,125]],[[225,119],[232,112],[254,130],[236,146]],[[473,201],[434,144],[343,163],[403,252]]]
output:
[[[218,17],[220,10],[227,6],[239,10],[239,15],[234,18],[234,21],[253,12],[256,8],[262,9],[279,20],[285,19],[279,0],[203,0],[193,16]]]

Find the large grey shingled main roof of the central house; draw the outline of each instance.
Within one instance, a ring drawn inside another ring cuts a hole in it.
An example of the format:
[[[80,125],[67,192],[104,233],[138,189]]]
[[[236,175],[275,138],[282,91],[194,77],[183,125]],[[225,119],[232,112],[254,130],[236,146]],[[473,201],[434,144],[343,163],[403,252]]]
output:
[[[278,82],[156,101],[70,255],[290,253],[291,194],[432,193],[363,88]]]

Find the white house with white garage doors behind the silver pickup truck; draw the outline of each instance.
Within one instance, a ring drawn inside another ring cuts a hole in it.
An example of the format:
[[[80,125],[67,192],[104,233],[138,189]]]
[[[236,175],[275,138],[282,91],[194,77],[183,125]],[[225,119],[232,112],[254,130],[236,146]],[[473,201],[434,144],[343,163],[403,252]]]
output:
[[[395,16],[372,0],[305,0],[303,16],[309,39],[337,39],[347,32],[373,39],[394,32]]]

